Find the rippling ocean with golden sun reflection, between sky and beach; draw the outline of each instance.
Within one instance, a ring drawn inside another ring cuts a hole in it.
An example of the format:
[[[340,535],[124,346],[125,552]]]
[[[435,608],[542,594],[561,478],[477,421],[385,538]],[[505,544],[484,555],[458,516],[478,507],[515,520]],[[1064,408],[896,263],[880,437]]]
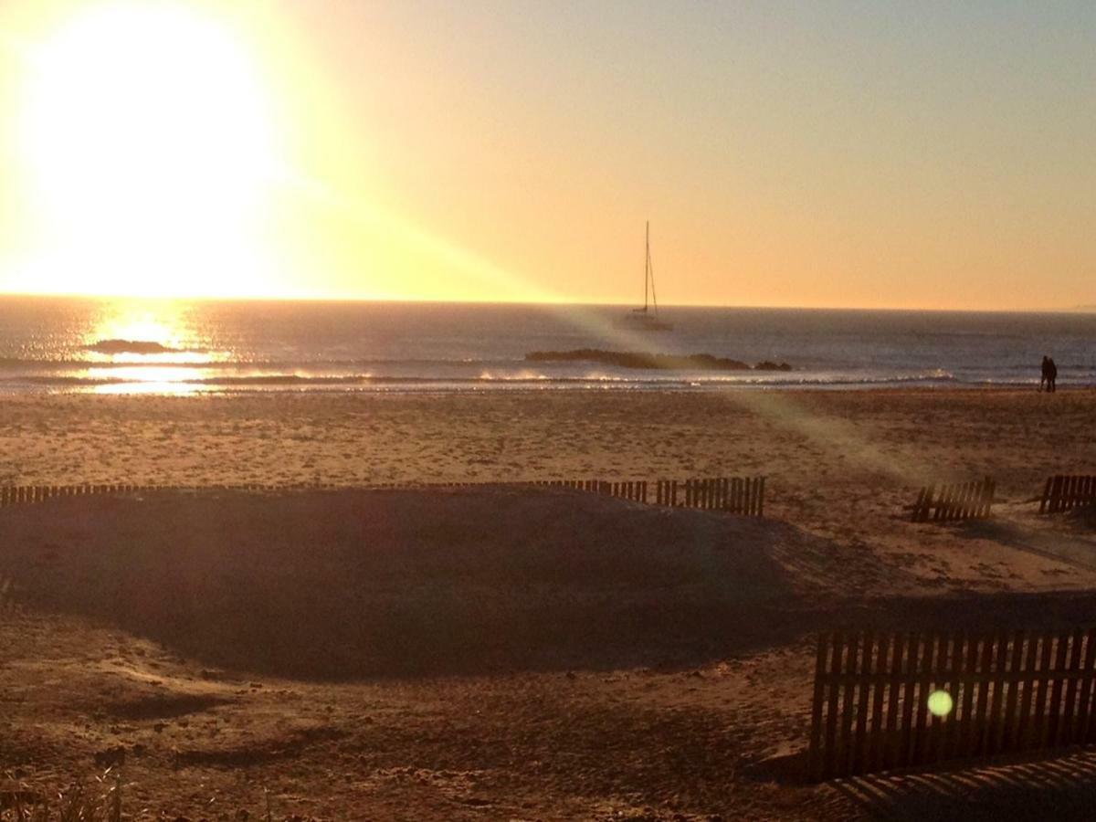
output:
[[[1096,386],[1096,313],[0,297],[0,392],[718,390]],[[790,370],[659,370],[535,351],[711,354]]]

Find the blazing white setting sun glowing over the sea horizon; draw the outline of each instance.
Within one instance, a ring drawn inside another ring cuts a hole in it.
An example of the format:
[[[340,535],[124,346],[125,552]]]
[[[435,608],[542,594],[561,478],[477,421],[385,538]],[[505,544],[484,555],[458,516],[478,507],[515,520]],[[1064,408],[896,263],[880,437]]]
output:
[[[198,7],[82,7],[32,49],[23,168],[54,290],[261,293],[276,129],[256,62]]]

